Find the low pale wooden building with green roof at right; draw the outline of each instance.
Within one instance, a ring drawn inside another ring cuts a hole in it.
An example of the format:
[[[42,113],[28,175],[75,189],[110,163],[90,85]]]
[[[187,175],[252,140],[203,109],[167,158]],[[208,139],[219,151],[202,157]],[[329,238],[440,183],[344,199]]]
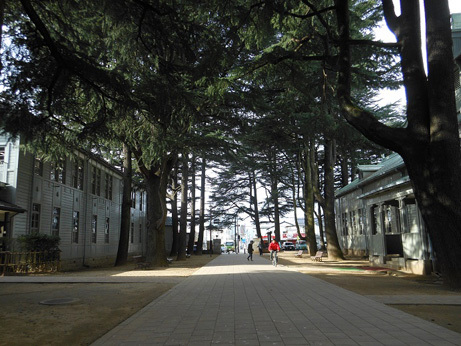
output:
[[[344,253],[415,274],[433,270],[433,255],[402,158],[359,166],[359,178],[336,191],[338,238]]]

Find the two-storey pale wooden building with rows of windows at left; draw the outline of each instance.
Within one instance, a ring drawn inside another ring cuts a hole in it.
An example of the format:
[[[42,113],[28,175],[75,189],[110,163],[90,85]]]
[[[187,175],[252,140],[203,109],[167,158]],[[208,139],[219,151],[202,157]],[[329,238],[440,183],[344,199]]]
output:
[[[143,254],[145,192],[134,191],[130,254]],[[121,172],[91,155],[42,162],[0,135],[0,246],[16,251],[15,239],[39,232],[61,239],[62,268],[113,263],[120,237]]]

